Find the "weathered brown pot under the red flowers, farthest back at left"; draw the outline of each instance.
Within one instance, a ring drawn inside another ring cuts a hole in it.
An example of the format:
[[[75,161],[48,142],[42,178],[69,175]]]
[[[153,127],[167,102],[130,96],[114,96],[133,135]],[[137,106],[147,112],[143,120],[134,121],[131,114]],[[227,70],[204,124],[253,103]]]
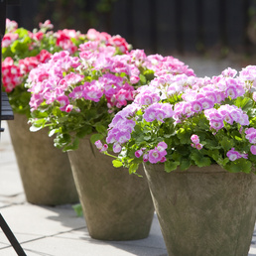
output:
[[[46,205],[78,202],[67,154],[54,147],[47,130],[30,132],[27,122],[21,114],[8,121],[27,200]]]

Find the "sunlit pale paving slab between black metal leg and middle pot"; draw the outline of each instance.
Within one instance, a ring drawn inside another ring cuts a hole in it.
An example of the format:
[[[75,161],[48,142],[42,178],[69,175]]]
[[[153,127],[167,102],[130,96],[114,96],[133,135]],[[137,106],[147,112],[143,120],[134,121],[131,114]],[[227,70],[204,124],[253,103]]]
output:
[[[58,208],[27,203],[1,208],[1,214],[20,243],[77,228],[85,230],[83,217],[76,217],[70,206]]]

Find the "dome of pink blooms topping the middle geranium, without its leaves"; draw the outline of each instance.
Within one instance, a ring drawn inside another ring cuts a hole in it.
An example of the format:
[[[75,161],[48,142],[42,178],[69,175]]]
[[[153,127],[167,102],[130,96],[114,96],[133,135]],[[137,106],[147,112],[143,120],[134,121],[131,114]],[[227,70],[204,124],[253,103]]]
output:
[[[84,43],[80,45],[80,58],[71,57],[64,51],[55,54],[47,64],[34,68],[28,78],[31,83],[29,91],[33,92],[31,110],[38,109],[44,100],[47,104],[59,101],[60,109],[65,112],[70,112],[70,102],[81,98],[99,102],[104,95],[110,110],[132,100],[132,84],[134,80],[138,81],[134,76],[138,77],[140,73],[138,67],[120,56],[114,56],[112,47],[96,47],[95,44]],[[66,94],[68,90],[70,92]],[[80,110],[76,108],[76,111]]]

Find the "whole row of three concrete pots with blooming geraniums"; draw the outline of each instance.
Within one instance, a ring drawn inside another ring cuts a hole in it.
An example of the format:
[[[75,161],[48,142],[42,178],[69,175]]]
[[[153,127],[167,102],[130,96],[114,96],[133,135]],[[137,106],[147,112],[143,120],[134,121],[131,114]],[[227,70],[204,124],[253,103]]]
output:
[[[3,58],[28,201],[72,203],[77,191],[102,240],[147,237],[155,209],[170,255],[248,254],[256,66],[196,77],[120,36],[50,22],[29,32],[8,21]]]

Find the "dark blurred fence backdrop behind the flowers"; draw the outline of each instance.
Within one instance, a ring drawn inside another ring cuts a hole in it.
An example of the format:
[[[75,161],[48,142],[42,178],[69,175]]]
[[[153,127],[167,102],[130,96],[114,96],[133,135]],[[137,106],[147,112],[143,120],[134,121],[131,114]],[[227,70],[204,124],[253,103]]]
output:
[[[256,0],[21,0],[7,17],[29,30],[47,19],[55,30],[95,28],[148,55],[256,64]]]

